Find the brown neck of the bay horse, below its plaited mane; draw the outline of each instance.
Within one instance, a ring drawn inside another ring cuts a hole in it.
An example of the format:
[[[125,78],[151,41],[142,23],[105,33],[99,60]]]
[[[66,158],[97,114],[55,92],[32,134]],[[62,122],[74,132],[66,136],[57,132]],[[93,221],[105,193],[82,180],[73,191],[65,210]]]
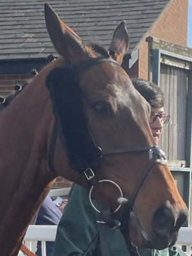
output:
[[[51,188],[47,167],[47,138],[53,122],[51,101],[45,88],[51,63],[1,112],[0,118],[0,254],[5,246],[22,241],[26,227]],[[10,234],[6,232],[12,230]],[[8,234],[8,236],[5,236]],[[16,246],[16,245],[15,245]],[[11,248],[10,248],[11,250]],[[3,254],[4,253],[4,254]]]

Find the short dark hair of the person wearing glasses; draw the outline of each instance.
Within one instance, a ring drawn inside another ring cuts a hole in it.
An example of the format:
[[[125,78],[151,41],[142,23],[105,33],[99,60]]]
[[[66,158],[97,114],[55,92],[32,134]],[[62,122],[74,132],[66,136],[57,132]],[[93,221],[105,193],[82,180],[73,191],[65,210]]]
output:
[[[131,81],[136,90],[141,93],[152,108],[163,108],[164,95],[157,84],[141,78],[132,78]]]

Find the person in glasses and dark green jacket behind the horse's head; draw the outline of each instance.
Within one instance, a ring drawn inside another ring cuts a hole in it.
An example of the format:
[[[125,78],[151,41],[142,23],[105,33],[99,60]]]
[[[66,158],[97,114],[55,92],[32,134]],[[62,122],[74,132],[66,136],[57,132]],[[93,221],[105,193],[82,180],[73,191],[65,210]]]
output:
[[[154,83],[134,78],[132,83],[151,106],[150,129],[154,140],[158,143],[163,125],[167,124],[170,115],[164,113],[164,96],[161,89]],[[68,204],[58,225],[54,256],[129,256],[124,237],[119,228],[111,230],[105,226],[106,248],[100,242],[97,212],[90,205],[88,194],[84,188],[75,184],[70,190]],[[139,248],[142,256],[173,256],[179,255],[177,248],[154,250]]]

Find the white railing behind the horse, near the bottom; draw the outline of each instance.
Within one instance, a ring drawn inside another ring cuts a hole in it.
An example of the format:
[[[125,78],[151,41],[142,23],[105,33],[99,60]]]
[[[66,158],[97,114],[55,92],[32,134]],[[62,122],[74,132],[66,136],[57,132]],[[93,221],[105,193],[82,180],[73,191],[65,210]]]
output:
[[[46,256],[45,241],[55,241],[57,226],[29,225],[24,244],[31,250],[36,251],[36,241],[42,241],[42,256]],[[192,228],[180,228],[177,246],[186,246],[186,254],[192,255]],[[180,252],[180,255],[182,251]],[[182,255],[181,255],[182,256]]]

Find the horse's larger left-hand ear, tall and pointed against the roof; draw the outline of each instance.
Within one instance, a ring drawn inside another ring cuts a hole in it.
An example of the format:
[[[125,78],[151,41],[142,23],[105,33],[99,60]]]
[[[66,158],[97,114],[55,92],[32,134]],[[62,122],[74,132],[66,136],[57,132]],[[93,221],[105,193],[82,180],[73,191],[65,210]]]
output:
[[[65,58],[74,58],[85,54],[81,38],[69,28],[52,10],[49,4],[45,3],[45,22],[47,31],[56,51]]]

